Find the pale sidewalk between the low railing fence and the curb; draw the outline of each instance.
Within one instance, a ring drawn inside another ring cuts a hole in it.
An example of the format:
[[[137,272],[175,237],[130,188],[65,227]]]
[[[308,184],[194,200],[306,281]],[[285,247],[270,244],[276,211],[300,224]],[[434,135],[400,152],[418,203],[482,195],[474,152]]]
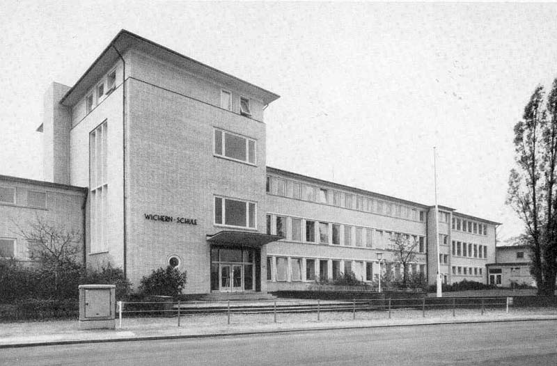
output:
[[[556,320],[557,310],[496,309],[480,315],[478,310],[459,309],[456,316],[450,310],[430,310],[423,317],[421,311],[322,313],[320,321],[315,314],[242,315],[233,314],[230,324],[226,315],[191,315],[177,317],[128,318],[116,330],[80,330],[77,320],[0,323],[0,348],[30,347],[47,344],[77,344],[87,342],[118,342],[128,340],[157,340],[179,337],[213,337],[222,335],[249,335],[290,331],[312,331],[340,328],[369,328],[384,326],[417,326],[425,324],[456,324],[492,321]],[[118,319],[116,319],[118,326]]]

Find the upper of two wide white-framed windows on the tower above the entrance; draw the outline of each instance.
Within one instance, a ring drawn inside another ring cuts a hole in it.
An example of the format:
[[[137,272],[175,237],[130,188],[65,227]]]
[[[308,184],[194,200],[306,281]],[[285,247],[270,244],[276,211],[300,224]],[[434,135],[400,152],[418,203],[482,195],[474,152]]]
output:
[[[217,157],[256,164],[256,141],[215,129],[214,154]]]

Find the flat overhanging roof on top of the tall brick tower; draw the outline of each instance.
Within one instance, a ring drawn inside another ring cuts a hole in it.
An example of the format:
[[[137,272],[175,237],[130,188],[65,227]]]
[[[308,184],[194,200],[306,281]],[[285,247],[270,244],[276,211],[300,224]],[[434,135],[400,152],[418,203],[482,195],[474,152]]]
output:
[[[209,65],[205,65],[199,61],[184,56],[172,49],[159,45],[146,38],[136,35],[125,29],[120,30],[116,37],[111,40],[109,45],[102,51],[102,53],[93,61],[91,66],[88,67],[86,72],[79,78],[79,80],[68,90],[68,93],[62,97],[60,103],[63,105],[73,105],[91,88],[93,83],[97,81],[109,67],[120,59],[118,53],[122,54],[130,48],[140,49],[148,54],[153,54],[158,58],[169,61],[178,67],[192,72],[200,77],[216,81],[223,86],[242,90],[242,92],[258,97],[264,104],[269,104],[277,100],[280,96],[256,86],[252,83],[244,81],[240,78],[234,77],[231,74],[222,72]],[[118,51],[116,51],[116,49]]]

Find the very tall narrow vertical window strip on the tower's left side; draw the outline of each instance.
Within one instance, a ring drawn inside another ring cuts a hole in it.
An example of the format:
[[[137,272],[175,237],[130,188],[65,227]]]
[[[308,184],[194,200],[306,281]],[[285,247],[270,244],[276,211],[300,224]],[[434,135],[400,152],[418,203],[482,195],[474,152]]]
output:
[[[106,251],[108,228],[108,125],[107,121],[89,134],[89,188],[91,189],[91,253]]]

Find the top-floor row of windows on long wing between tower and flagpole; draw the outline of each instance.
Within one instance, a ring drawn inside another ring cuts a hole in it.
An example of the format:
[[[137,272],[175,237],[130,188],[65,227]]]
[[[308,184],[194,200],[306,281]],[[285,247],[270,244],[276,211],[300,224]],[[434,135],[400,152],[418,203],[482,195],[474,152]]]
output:
[[[425,221],[425,212],[406,205],[325,189],[311,184],[296,182],[294,180],[267,176],[266,190],[267,193],[276,196],[324,203],[326,205],[344,207],[347,209],[356,209],[362,212],[407,218],[414,221]]]

